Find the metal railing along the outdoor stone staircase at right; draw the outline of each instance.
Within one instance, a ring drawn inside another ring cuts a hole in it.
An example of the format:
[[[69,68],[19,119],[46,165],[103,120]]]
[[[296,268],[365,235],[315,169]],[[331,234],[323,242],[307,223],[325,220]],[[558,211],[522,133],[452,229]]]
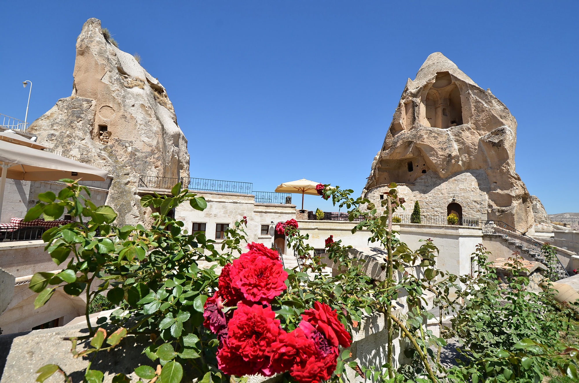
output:
[[[563,264],[559,260],[559,257],[555,255],[557,262],[554,264],[549,264],[541,248],[543,248],[544,243],[541,243],[529,235],[523,233],[512,227],[510,224],[503,221],[497,220],[483,220],[482,221],[482,233],[483,234],[498,234],[501,235],[505,240],[515,245],[517,248],[525,251],[530,257],[538,260],[539,262],[545,264],[549,268],[549,274],[556,275],[558,279],[563,279],[569,277],[569,273],[563,267]],[[551,268],[555,270],[551,270]]]

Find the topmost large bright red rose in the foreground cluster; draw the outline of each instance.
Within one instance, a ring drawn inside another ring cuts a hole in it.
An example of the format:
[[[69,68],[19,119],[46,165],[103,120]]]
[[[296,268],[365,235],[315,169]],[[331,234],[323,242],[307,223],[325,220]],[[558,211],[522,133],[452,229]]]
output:
[[[288,273],[281,262],[256,252],[243,253],[233,260],[230,272],[232,284],[251,302],[269,304],[287,289],[284,282]]]

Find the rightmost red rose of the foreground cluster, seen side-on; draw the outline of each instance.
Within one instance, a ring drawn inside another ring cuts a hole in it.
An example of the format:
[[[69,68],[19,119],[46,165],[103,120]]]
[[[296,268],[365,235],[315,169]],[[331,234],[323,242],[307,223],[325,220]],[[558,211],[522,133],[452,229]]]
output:
[[[316,301],[314,308],[303,312],[302,319],[323,333],[332,347],[338,347],[338,345],[350,347],[350,333],[348,333],[344,325],[338,321],[336,311],[332,310],[327,304]]]

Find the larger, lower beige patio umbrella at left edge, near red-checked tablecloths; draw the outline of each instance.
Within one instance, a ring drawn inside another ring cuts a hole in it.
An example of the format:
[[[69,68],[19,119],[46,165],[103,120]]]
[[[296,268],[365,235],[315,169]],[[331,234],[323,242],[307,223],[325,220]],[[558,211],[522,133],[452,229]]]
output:
[[[61,178],[104,181],[108,171],[57,154],[0,140],[0,216],[6,178],[25,181],[57,181]]]

